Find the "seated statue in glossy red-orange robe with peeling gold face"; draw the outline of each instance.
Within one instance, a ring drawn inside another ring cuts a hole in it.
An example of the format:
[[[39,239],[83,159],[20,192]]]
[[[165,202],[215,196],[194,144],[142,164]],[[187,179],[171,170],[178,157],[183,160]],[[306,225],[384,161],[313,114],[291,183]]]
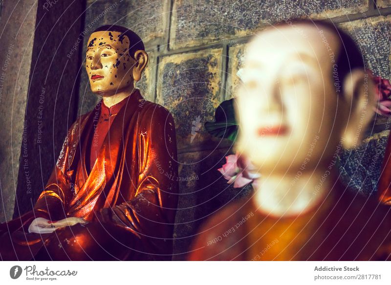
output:
[[[102,99],[70,127],[34,208],[0,224],[1,260],[171,260],[175,126],[134,87],[147,63],[125,27],[90,35],[86,69]]]

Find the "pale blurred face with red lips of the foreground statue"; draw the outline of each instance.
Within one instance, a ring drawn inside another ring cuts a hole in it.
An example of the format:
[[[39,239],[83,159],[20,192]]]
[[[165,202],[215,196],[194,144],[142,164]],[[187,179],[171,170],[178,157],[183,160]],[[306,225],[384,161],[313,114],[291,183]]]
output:
[[[309,24],[269,29],[249,43],[238,74],[237,146],[261,172],[310,170],[333,153],[343,125],[332,77],[338,54],[336,36]]]

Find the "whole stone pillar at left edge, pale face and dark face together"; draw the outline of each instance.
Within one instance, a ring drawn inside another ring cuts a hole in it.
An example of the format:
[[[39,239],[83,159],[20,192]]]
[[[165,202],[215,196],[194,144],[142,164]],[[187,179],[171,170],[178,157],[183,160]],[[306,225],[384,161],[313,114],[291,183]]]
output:
[[[76,119],[84,7],[1,1],[0,222],[33,208]]]

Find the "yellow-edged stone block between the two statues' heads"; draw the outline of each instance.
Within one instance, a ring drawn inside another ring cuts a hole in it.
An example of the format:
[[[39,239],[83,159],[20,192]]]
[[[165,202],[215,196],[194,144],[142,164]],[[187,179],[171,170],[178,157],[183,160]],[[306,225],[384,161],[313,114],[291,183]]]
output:
[[[158,66],[157,103],[174,116],[178,149],[219,142],[204,128],[220,104],[222,49],[175,54]]]

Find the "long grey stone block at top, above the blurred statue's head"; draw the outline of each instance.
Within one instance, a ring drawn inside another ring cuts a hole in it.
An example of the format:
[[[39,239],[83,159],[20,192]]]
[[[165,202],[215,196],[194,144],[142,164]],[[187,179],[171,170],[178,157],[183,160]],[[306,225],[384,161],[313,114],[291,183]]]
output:
[[[367,10],[368,0],[175,0],[170,48],[251,35],[287,19],[325,19]]]

